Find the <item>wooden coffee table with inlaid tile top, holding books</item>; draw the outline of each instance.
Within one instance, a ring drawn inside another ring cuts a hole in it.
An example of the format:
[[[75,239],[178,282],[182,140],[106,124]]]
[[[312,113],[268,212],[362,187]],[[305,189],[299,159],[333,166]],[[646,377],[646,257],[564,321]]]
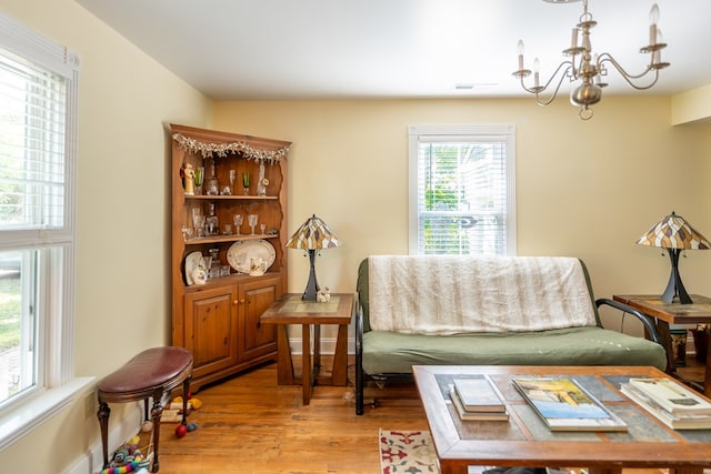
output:
[[[654,367],[632,366],[440,366],[412,367],[437,448],[441,474],[469,465],[588,467],[591,474],[622,468],[670,468],[701,474],[711,466],[711,430],[674,431],[619,392],[631,376],[665,377]],[[503,395],[508,422],[463,422],[447,394],[451,381],[489,374]],[[622,417],[628,432],[551,432],[511,383],[517,375],[575,379]]]

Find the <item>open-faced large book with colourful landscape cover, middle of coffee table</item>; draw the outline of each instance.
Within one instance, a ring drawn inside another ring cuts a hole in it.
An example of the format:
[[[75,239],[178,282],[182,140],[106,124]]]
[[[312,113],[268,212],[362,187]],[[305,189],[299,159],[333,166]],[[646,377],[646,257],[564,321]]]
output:
[[[551,431],[627,431],[622,418],[573,379],[514,377],[512,382]]]

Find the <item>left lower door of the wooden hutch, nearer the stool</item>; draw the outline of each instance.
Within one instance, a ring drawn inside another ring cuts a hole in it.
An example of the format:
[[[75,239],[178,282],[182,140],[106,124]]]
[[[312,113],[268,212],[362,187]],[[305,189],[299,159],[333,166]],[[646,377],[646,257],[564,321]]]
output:
[[[238,362],[237,288],[221,286],[186,295],[184,346],[194,357],[193,376]]]

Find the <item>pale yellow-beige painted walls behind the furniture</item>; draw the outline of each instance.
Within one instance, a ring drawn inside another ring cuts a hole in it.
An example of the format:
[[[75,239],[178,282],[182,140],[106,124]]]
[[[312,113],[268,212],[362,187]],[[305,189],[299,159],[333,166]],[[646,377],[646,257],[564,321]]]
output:
[[[76,373],[101,377],[169,342],[167,123],[294,142],[289,229],[311,213],[343,241],[317,263],[333,291],[358,262],[405,253],[407,125],[517,125],[520,254],[585,259],[599,296],[659,292],[668,260],[634,245],[672,209],[711,234],[709,127],[670,127],[670,100],[605,98],[588,123],[565,99],[231,102],[214,105],[72,0],[0,0],[0,11],[81,54]],[[663,192],[659,192],[659,191]],[[307,259],[290,251],[290,291]],[[687,289],[711,293],[711,252],[681,262]],[[120,407],[112,413],[120,418]],[[83,400],[0,453],[3,472],[66,472],[99,440]]]

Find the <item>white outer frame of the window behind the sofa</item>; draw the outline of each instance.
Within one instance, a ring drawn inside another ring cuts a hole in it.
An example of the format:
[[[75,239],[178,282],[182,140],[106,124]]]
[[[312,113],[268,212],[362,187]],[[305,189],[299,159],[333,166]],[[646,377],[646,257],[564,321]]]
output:
[[[419,253],[419,219],[418,219],[418,160],[419,141],[424,137],[447,137],[452,140],[469,139],[475,141],[478,137],[499,137],[507,142],[507,255],[517,253],[515,232],[515,125],[409,125],[409,253]]]

